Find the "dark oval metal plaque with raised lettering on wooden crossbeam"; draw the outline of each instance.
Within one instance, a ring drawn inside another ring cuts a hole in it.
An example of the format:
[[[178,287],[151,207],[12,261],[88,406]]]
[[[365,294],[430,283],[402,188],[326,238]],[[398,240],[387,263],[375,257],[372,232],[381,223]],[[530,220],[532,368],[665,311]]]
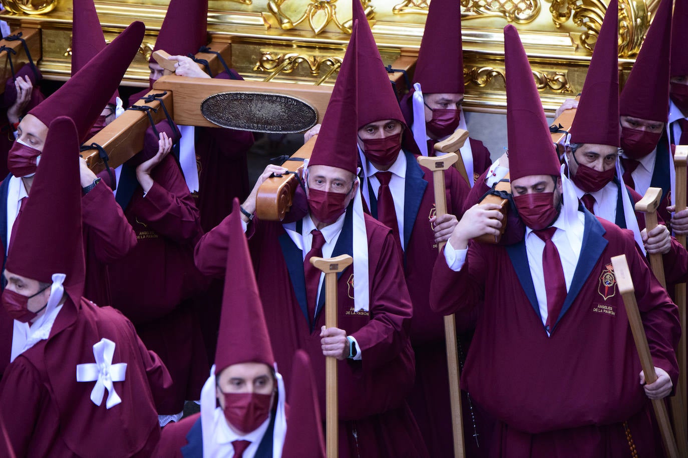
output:
[[[201,113],[218,126],[264,133],[297,133],[315,126],[318,112],[290,95],[222,92],[201,103]]]

